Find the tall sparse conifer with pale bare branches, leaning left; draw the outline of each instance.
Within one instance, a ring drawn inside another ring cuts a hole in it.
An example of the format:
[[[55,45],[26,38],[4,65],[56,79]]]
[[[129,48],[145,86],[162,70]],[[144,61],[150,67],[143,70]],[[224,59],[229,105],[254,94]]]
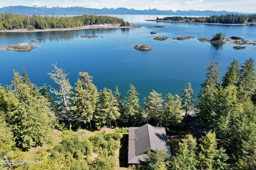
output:
[[[57,62],[52,64],[54,70],[49,72],[50,78],[58,85],[58,88],[50,88],[50,92],[56,95],[56,104],[58,104],[59,116],[61,119],[68,121],[69,129],[72,129],[72,121],[74,119],[74,113],[71,111],[72,106],[72,86],[67,78],[68,74],[65,70],[57,67]]]

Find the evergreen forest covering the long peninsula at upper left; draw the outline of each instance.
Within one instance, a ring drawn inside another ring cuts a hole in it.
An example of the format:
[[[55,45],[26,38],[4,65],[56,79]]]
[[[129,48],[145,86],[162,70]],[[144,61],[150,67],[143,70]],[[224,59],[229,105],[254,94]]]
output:
[[[94,24],[120,23],[122,26],[130,25],[128,21],[112,16],[26,16],[16,14],[0,14],[1,29],[46,29],[81,27]]]

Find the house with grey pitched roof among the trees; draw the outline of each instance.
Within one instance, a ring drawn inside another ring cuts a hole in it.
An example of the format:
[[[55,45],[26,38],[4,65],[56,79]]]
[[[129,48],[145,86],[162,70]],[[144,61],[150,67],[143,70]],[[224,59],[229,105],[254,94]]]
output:
[[[140,164],[147,157],[148,149],[171,153],[164,127],[153,127],[149,124],[129,127],[128,164]]]

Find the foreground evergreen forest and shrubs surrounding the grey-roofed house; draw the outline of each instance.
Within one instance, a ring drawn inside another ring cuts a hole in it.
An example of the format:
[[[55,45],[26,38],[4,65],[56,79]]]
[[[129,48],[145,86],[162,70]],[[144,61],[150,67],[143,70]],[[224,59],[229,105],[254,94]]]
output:
[[[122,133],[128,132],[126,127],[147,122],[164,126],[168,135],[180,138],[170,140],[172,156],[149,150],[145,162],[132,169],[256,168],[254,59],[243,64],[234,59],[223,77],[220,63],[208,62],[196,105],[190,82],[180,96],[168,93],[163,98],[152,90],[140,102],[132,84],[123,97],[118,87],[114,92],[99,91],[92,76],[79,72],[72,86],[68,73],[57,63],[52,66],[48,74],[56,87],[36,86],[25,69],[21,75],[14,70],[10,86],[0,86],[1,169],[115,169],[120,161],[116,150]],[[101,132],[102,127],[112,131]],[[44,162],[12,164],[12,160]]]

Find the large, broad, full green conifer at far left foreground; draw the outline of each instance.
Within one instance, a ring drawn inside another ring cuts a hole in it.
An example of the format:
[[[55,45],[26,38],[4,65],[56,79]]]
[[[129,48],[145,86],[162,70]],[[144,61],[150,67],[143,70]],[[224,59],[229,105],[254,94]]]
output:
[[[18,105],[12,112],[10,125],[16,146],[29,149],[44,142],[53,123],[49,118],[54,119],[54,113],[47,100],[40,95],[38,88],[28,82],[26,76],[22,77],[14,70],[13,77],[12,86]]]

